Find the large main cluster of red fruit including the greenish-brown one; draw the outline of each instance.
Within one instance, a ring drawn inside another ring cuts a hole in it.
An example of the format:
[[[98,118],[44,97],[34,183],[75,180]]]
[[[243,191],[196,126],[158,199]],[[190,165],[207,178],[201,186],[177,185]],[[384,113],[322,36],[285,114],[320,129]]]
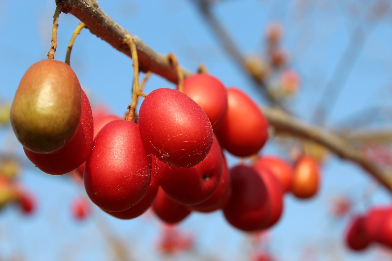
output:
[[[279,160],[269,170],[275,159],[229,171],[223,149],[238,157],[257,154],[268,122],[247,94],[209,74],[186,78],[183,92],[152,91],[135,123],[93,117],[71,67],[43,60],[22,77],[10,119],[36,167],[53,175],[76,169],[91,201],[121,219],[140,216],[151,205],[167,223],[192,210],[223,209],[231,225],[255,231],[278,221],[283,192],[307,198],[318,188],[311,158],[298,162],[298,175]]]

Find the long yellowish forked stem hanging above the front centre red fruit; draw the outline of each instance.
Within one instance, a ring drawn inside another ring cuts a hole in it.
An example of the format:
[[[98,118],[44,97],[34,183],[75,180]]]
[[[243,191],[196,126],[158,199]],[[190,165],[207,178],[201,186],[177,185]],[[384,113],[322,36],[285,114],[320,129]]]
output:
[[[132,121],[135,114],[136,102],[138,101],[138,96],[145,97],[146,94],[140,91],[139,89],[139,60],[138,60],[138,51],[136,50],[136,44],[133,40],[132,36],[127,36],[124,40],[124,43],[129,46],[132,54],[132,66],[133,66],[133,92],[132,92],[132,101],[128,106],[129,113],[127,117],[127,121]]]

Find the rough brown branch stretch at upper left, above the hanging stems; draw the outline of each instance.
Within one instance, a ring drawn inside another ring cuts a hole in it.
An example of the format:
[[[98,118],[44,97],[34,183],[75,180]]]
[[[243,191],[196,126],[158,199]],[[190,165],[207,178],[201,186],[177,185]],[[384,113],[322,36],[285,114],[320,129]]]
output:
[[[63,13],[73,14],[92,34],[95,34],[118,51],[132,57],[129,47],[123,42],[125,37],[132,34],[113,21],[98,6],[96,0],[55,0],[56,4],[63,5]],[[171,66],[166,55],[158,54],[143,43],[138,36],[132,35],[139,55],[139,70],[151,71],[166,78],[170,82],[177,83],[176,70]],[[182,69],[185,77],[192,73]]]

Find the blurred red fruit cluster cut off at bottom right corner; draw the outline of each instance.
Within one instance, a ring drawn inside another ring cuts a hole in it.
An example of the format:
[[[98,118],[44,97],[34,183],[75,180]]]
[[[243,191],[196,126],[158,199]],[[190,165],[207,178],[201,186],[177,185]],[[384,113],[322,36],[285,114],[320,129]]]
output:
[[[346,234],[347,246],[365,250],[372,243],[392,247],[392,208],[373,207],[366,215],[352,219]]]

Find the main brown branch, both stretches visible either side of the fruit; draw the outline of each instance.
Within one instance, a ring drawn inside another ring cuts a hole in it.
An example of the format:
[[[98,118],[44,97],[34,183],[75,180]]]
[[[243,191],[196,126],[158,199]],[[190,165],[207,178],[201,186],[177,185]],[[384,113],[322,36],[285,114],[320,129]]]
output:
[[[64,4],[62,12],[73,14],[89,28],[91,33],[102,38],[119,51],[131,56],[129,47],[123,44],[123,40],[131,34],[103,13],[95,0],[56,0],[56,3],[59,2]],[[177,83],[176,71],[169,63],[167,56],[156,53],[137,36],[133,36],[133,38],[139,54],[140,69],[145,72],[152,71],[171,82]],[[182,70],[184,76],[191,74],[185,69]],[[368,161],[347,140],[318,126],[303,123],[281,109],[263,107],[262,110],[276,132],[289,133],[291,136],[312,140],[325,146],[341,158],[360,165],[392,192],[392,174]]]

